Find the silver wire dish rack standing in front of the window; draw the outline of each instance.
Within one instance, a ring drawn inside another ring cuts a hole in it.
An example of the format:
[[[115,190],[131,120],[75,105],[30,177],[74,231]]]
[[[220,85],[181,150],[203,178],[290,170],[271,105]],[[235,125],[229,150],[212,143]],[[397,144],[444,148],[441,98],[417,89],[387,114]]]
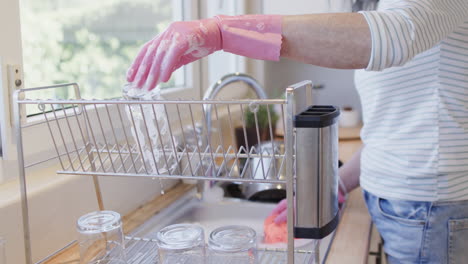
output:
[[[75,99],[26,98],[32,91],[64,87],[74,88]],[[26,262],[33,263],[25,169],[53,159],[60,163],[58,174],[93,178],[101,210],[104,209],[104,204],[98,177],[286,184],[288,206],[293,208],[295,137],[292,122],[295,113],[312,103],[311,93],[310,81],[287,88],[285,99],[278,100],[83,100],[77,84],[16,91],[13,95],[14,121],[20,164]],[[26,120],[23,113],[27,105],[37,106],[43,117],[41,122],[31,124]],[[265,123],[265,120],[259,120],[257,116],[261,106],[266,106],[267,111],[267,125],[263,127],[262,122]],[[208,107],[214,110],[210,111],[213,113],[210,122],[216,131],[205,129],[203,133],[199,133],[199,124],[207,124],[205,114]],[[279,154],[258,149],[252,142],[249,144],[247,120],[244,119],[246,111],[250,110],[253,113],[257,142],[262,141],[262,134],[267,134],[267,140],[273,146],[273,108],[279,109],[277,114],[282,122],[278,124],[284,130],[285,148]],[[47,126],[56,156],[25,164],[22,129],[40,124]],[[235,127],[241,127],[244,142],[236,144]],[[208,138],[209,134],[211,136]],[[260,158],[261,162],[254,166],[250,162],[251,158]],[[272,160],[279,162],[271,162]],[[280,164],[280,168],[275,164]],[[280,177],[282,171],[286,177]],[[263,178],[258,177],[258,173]],[[288,210],[288,218],[293,219],[293,210]],[[287,250],[260,250],[260,263],[318,263],[318,246],[316,251],[295,249],[293,223],[294,221],[288,221]],[[126,242],[129,263],[157,263],[156,244],[151,238],[126,237]]]

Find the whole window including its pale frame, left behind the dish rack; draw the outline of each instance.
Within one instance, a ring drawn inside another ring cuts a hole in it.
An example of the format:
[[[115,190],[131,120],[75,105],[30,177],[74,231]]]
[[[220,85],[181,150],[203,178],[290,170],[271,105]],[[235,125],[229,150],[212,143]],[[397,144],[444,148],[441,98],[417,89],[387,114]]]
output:
[[[192,0],[8,0],[0,1],[1,96],[8,102],[7,66],[19,65],[24,87],[77,82],[85,99],[120,97],[125,73],[140,45],[172,21],[198,18],[199,1]],[[21,30],[20,30],[21,29]],[[200,63],[182,67],[165,85],[167,99],[201,97]],[[73,89],[49,89],[29,93],[28,98],[74,98]],[[13,144],[12,103],[3,104],[0,127],[3,157],[16,160]],[[37,106],[21,109],[39,113]],[[28,120],[37,123],[41,116]],[[36,138],[49,137],[46,125],[24,129]],[[37,146],[36,146],[37,145]],[[25,149],[28,160],[44,156],[53,147],[36,140]],[[42,154],[41,154],[42,153]],[[16,166],[11,163],[12,166]],[[6,165],[3,165],[6,166]],[[1,174],[0,183],[15,178]]]

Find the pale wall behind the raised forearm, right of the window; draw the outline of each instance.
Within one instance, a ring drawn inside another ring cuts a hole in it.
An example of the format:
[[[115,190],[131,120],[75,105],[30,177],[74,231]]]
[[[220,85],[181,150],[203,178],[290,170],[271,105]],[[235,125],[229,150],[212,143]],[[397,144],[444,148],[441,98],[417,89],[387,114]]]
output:
[[[263,0],[263,10],[265,14],[282,15],[342,12],[350,3],[350,0]],[[287,59],[265,62],[263,69],[264,84],[270,97],[281,95],[288,85],[311,80],[324,85],[324,89],[314,91],[314,103],[361,109],[352,70],[327,69]]]

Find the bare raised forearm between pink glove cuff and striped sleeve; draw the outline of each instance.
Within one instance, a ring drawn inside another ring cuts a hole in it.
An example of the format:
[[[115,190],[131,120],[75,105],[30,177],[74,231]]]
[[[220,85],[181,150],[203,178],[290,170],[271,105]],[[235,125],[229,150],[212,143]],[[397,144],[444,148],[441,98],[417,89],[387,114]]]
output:
[[[362,69],[369,63],[371,35],[358,13],[283,17],[281,56],[337,69]]]

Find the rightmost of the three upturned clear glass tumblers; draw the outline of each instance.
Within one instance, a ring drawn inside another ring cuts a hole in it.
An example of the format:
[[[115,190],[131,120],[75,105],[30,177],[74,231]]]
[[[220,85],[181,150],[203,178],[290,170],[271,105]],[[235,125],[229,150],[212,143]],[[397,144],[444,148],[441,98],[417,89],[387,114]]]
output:
[[[257,263],[257,234],[247,226],[225,226],[211,232],[207,264]]]

